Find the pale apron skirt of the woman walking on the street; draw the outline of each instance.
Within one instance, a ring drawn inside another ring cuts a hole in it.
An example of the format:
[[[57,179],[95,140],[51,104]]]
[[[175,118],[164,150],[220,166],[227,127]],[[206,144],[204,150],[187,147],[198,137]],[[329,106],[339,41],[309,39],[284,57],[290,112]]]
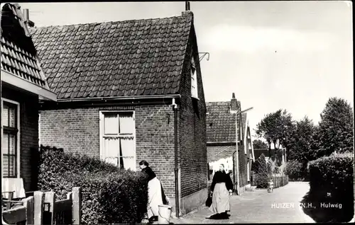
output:
[[[209,210],[213,213],[230,211],[229,192],[226,190],[226,183],[217,183],[214,186],[212,204]]]

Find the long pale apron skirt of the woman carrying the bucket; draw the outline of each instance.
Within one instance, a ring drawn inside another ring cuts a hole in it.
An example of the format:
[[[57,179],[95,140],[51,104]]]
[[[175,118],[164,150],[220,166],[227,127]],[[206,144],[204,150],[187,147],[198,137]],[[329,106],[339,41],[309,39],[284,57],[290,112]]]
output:
[[[148,182],[148,218],[158,216],[159,204],[163,204],[161,184],[158,178],[153,178]]]

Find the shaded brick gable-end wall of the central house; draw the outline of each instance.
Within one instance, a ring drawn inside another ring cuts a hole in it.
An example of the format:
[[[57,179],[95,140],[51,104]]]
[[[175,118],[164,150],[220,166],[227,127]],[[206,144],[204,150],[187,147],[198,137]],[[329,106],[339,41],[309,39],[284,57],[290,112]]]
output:
[[[181,81],[179,112],[179,142],[181,168],[181,197],[207,188],[206,104],[202,86],[200,61],[193,33],[187,45]],[[191,55],[195,52],[197,87],[200,100],[191,97]]]

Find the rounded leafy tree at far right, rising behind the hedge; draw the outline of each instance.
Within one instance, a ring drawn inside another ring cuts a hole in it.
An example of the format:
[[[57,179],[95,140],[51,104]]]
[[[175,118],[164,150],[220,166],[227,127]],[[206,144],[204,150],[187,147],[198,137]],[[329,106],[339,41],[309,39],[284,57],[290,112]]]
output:
[[[322,111],[319,129],[315,137],[317,156],[329,156],[332,152],[354,152],[354,113],[351,105],[342,98],[329,98]]]

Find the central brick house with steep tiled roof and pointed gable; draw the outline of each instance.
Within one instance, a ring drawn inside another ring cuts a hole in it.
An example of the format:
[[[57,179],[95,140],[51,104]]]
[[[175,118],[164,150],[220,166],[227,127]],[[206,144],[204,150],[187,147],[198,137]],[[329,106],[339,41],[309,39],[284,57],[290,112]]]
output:
[[[176,204],[180,214],[203,204],[206,105],[193,21],[185,11],[171,18],[33,29],[48,82],[58,93],[57,103],[40,103],[40,144],[133,171],[146,160],[173,211]]]

